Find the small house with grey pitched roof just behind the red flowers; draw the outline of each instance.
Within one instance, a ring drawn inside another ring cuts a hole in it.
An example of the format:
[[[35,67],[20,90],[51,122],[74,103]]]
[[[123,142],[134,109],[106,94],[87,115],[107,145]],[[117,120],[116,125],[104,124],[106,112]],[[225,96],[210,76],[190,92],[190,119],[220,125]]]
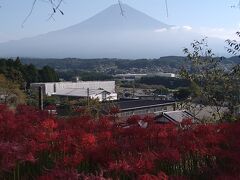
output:
[[[179,124],[184,120],[191,120],[193,123],[199,121],[196,117],[194,117],[191,113],[185,110],[177,110],[177,111],[167,111],[162,112],[158,116],[155,117],[157,123],[174,123]]]

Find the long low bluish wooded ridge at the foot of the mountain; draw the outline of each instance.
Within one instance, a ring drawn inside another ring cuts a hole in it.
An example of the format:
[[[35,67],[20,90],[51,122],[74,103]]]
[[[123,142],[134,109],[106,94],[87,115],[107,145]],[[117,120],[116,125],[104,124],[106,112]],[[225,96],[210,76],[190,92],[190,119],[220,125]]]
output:
[[[154,72],[172,72],[177,73],[186,65],[186,58],[182,56],[167,56],[158,59],[31,59],[20,58],[24,64],[33,64],[38,68],[50,66],[57,71],[87,71],[100,72],[110,75],[121,73],[154,73]],[[221,58],[221,63],[227,69],[233,65],[240,64],[240,58],[234,56],[231,58]]]

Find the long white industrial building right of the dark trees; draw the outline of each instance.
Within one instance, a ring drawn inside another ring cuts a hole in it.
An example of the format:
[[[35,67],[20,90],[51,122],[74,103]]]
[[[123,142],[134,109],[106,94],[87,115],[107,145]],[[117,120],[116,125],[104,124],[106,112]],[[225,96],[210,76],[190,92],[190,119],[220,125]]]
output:
[[[47,96],[65,96],[77,98],[92,98],[104,100],[117,100],[115,81],[77,81],[77,82],[49,82],[32,83],[31,89],[42,87],[43,94]]]

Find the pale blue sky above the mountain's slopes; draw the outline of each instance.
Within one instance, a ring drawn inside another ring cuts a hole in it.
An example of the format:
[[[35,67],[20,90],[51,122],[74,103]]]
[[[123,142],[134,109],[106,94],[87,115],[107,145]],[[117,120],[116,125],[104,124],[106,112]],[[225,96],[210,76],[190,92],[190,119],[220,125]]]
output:
[[[0,0],[0,42],[31,37],[77,24],[100,12],[117,0],[64,0],[65,15],[48,21],[51,7],[47,0],[38,0],[35,9],[21,24],[31,9],[33,0]],[[122,0],[160,21],[176,26],[187,26],[202,34],[227,38],[240,28],[240,9],[231,8],[239,0]],[[127,12],[126,12],[127,13]]]

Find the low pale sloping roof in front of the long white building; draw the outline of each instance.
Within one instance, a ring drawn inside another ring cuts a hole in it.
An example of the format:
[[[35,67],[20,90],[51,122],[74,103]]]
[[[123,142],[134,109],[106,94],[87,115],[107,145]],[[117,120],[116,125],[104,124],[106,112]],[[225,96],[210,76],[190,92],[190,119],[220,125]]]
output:
[[[87,89],[83,88],[66,88],[66,89],[60,89],[54,95],[56,96],[72,96],[72,97],[88,97],[92,95],[101,94],[103,92],[107,92],[102,89],[89,89],[89,94]],[[109,93],[109,92],[107,92]]]

